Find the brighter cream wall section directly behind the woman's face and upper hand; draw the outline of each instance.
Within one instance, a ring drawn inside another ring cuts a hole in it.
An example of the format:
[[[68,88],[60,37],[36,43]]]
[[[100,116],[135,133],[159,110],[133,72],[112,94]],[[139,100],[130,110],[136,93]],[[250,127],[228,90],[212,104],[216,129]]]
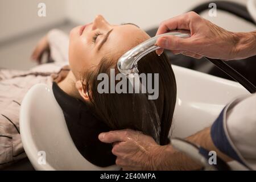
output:
[[[158,26],[164,19],[179,15],[192,7],[208,0],[66,0],[69,19],[85,24],[92,22],[97,14],[102,14],[113,24],[132,22],[141,28]],[[230,0],[245,4],[247,0]],[[207,15],[207,14],[205,14]],[[205,18],[209,18],[208,15]],[[251,31],[254,26],[248,26],[242,20],[219,13],[217,18],[210,18],[214,23],[233,31]]]

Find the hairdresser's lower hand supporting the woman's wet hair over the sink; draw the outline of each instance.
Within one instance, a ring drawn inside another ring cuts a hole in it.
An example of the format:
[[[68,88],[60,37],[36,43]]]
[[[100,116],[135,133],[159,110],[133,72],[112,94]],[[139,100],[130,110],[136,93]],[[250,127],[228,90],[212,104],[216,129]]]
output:
[[[113,143],[116,164],[123,170],[156,170],[164,146],[138,131],[119,130],[101,133],[101,142]]]

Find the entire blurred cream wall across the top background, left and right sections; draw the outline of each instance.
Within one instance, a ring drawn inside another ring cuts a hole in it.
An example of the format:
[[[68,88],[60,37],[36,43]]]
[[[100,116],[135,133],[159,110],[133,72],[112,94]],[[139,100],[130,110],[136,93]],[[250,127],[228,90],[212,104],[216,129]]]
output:
[[[92,22],[102,14],[113,24],[132,22],[144,30],[156,27],[162,20],[188,11],[193,6],[208,0],[1,0],[0,43],[17,35],[54,26],[66,18],[75,23]],[[246,3],[247,0],[230,0]],[[47,16],[38,16],[38,3],[46,3]],[[209,17],[205,14],[205,18]],[[255,26],[242,20],[218,13],[210,18],[214,23],[233,31],[251,31]]]

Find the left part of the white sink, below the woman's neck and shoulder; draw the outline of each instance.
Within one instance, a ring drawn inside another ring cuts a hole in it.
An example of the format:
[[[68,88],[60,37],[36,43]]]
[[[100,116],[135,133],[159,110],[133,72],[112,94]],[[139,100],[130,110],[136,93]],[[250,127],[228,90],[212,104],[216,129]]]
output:
[[[36,170],[119,169],[117,166],[97,167],[80,154],[69,135],[52,88],[46,84],[32,86],[24,97],[20,108],[20,135],[28,159]]]

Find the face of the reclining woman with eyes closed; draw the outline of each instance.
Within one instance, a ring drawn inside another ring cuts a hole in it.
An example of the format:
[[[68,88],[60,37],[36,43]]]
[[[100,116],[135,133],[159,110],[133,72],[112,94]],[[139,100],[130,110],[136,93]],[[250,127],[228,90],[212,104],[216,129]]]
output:
[[[73,28],[69,40],[69,64],[77,79],[107,57],[118,60],[137,44],[150,38],[134,24],[112,25],[101,15],[93,23]]]

